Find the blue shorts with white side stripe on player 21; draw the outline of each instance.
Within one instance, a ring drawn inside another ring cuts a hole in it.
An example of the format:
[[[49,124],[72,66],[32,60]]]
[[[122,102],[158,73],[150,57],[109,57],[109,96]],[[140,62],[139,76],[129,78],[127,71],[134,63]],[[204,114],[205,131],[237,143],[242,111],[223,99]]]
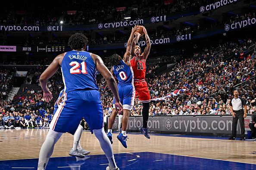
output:
[[[99,91],[78,90],[64,93],[50,128],[57,132],[75,134],[82,117],[86,119],[92,134],[94,129],[104,127]]]

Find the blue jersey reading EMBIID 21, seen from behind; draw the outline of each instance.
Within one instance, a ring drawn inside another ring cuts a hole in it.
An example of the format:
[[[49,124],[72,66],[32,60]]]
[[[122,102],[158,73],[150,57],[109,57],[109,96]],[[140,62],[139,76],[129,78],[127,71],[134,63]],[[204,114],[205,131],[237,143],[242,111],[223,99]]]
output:
[[[66,52],[61,64],[65,93],[75,90],[98,90],[96,65],[91,53],[85,51]]]

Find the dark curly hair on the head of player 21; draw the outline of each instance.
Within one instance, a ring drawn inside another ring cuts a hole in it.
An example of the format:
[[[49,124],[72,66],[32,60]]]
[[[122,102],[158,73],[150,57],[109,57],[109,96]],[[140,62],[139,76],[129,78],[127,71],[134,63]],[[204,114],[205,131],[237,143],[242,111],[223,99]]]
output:
[[[82,33],[75,33],[69,37],[69,46],[71,49],[82,49],[87,43],[88,39]]]

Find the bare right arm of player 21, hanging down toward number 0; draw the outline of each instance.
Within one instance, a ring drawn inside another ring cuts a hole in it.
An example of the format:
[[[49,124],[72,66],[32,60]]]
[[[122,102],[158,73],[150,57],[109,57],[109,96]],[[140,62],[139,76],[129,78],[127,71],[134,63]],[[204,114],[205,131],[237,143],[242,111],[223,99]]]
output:
[[[104,65],[102,59],[100,56],[92,54],[92,58],[95,61],[97,70],[101,73],[101,75],[106,79],[107,84],[109,85],[109,88],[111,89],[115,100],[116,100],[116,106],[119,107],[119,112],[122,112],[122,104],[120,103],[120,98],[118,94],[117,84],[114,76],[110,73],[109,69]]]

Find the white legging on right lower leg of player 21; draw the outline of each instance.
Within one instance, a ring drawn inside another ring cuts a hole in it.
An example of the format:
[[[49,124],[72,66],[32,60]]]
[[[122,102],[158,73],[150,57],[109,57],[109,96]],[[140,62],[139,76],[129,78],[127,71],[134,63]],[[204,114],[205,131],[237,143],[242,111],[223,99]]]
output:
[[[112,145],[110,143],[109,138],[105,134],[104,127],[101,129],[93,130],[93,131],[95,136],[100,142],[101,149],[103,150],[103,152],[105,153],[106,157],[109,160],[109,168],[112,169],[117,167],[114,154],[113,154]]]

